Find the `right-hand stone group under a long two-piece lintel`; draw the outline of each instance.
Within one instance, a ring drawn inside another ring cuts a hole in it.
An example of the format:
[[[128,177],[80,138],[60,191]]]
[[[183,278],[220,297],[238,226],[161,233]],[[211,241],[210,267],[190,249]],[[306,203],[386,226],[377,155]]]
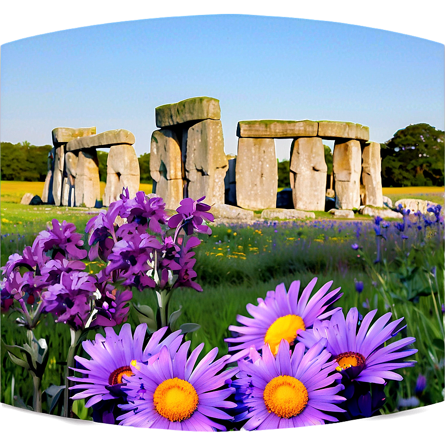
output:
[[[327,166],[323,139],[335,141],[335,207],[352,210],[361,206],[361,178],[365,188],[363,204],[383,205],[380,145],[369,141],[368,127],[352,122],[257,120],[238,122],[236,134],[236,199],[240,207],[250,210],[275,207],[271,205],[269,190],[275,184],[273,178],[278,176],[276,163],[272,166],[270,161],[275,156],[274,139],[292,139],[290,180],[295,209],[325,209]],[[247,150],[247,146],[251,149]],[[267,172],[264,165],[269,167]]]

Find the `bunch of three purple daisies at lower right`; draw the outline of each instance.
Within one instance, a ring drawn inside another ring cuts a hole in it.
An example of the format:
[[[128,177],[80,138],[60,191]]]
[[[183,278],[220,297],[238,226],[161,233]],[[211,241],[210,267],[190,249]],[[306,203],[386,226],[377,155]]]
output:
[[[242,326],[229,326],[240,372],[233,382],[243,429],[293,428],[369,417],[384,404],[387,380],[401,380],[392,370],[414,366],[402,359],[415,338],[388,343],[403,328],[386,313],[371,325],[376,310],[361,317],[352,308],[329,308],[342,296],[329,293],[332,282],[312,297],[316,279],[299,296],[299,282],[268,292],[258,306],[247,305],[254,317],[238,315]],[[261,351],[261,354],[259,353]],[[337,412],[334,417],[324,411]]]

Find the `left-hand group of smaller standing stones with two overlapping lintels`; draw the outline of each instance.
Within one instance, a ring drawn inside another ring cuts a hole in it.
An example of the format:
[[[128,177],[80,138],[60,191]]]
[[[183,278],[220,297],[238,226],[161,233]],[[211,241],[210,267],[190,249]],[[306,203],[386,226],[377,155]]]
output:
[[[96,127],[58,127],[52,131],[52,139],[44,202],[69,207],[96,205],[100,200],[97,148],[110,150],[103,204],[119,199],[123,187],[128,187],[131,197],[136,195],[140,172],[131,132],[119,129],[96,134]]]

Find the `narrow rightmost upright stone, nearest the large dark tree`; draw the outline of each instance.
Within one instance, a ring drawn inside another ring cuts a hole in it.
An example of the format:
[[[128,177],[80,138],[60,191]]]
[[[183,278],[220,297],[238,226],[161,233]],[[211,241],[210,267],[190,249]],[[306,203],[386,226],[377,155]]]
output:
[[[365,186],[366,206],[383,207],[381,188],[380,144],[369,142],[365,144],[362,153],[362,181]]]

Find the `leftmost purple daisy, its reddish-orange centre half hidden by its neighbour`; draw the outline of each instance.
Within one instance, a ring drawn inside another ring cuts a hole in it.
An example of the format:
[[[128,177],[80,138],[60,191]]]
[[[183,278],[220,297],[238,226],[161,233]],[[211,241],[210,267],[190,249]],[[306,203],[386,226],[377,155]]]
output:
[[[91,360],[75,356],[75,360],[85,369],[75,369],[74,371],[85,374],[83,377],[68,377],[70,380],[79,382],[71,389],[83,389],[82,392],[74,394],[74,400],[90,397],[85,406],[94,405],[100,400],[118,398],[121,394],[120,388],[125,385],[122,381],[124,375],[133,373],[130,365],[137,362],[147,361],[152,355],[159,353],[161,348],[174,354],[182,342],[180,331],[173,332],[163,341],[160,341],[167,327],[163,327],[154,332],[143,351],[143,343],[147,325],[140,324],[135,329],[132,336],[131,326],[126,323],[122,326],[119,334],[116,334],[111,327],[105,328],[105,338],[101,334],[96,334],[94,341],[85,340],[82,347],[89,354]]]

